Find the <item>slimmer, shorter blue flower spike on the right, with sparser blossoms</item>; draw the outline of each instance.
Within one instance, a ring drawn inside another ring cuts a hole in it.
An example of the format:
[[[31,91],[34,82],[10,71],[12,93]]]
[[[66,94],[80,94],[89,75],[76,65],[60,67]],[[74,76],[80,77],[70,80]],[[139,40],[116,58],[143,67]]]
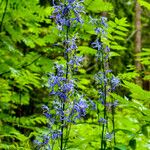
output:
[[[90,17],[91,23],[96,25],[94,29],[97,38],[95,42],[92,43],[92,47],[97,49],[97,63],[99,66],[99,72],[95,75],[95,81],[97,84],[97,89],[99,92],[99,104],[103,105],[103,117],[98,118],[99,124],[102,125],[101,133],[101,149],[106,149],[107,141],[112,140],[115,136],[114,132],[114,113],[115,108],[118,105],[117,100],[110,98],[110,93],[114,92],[115,89],[119,86],[120,80],[112,74],[112,71],[109,69],[109,52],[110,48],[107,45],[107,42],[101,42],[108,40],[107,38],[107,18],[101,17],[101,19],[93,19]],[[103,40],[105,39],[105,40]],[[109,99],[108,99],[109,97]],[[111,99],[111,101],[110,101]],[[98,108],[98,107],[97,107]],[[99,112],[99,111],[98,111]],[[109,116],[108,112],[111,112],[113,122],[113,129],[108,129]],[[98,116],[100,116],[99,114]],[[115,139],[115,138],[114,138]]]

